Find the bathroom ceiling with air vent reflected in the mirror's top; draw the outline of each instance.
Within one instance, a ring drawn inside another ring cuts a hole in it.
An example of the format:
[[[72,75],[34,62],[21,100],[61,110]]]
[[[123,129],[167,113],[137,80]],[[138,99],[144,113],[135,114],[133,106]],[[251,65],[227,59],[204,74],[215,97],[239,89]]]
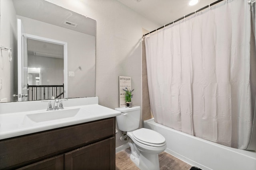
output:
[[[16,14],[34,20],[50,23],[88,35],[96,36],[96,21],[77,14],[45,0],[12,0]],[[65,25],[65,21],[77,24]]]

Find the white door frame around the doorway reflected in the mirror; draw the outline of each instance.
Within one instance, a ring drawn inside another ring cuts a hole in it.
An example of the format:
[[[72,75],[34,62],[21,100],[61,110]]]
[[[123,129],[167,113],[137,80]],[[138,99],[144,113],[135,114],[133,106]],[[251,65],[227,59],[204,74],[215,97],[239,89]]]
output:
[[[37,35],[31,35],[25,33],[24,36],[29,39],[45,41],[49,43],[59,44],[64,46],[64,98],[68,98],[68,43],[64,41],[59,41],[56,39],[50,39],[45,37],[40,37]]]

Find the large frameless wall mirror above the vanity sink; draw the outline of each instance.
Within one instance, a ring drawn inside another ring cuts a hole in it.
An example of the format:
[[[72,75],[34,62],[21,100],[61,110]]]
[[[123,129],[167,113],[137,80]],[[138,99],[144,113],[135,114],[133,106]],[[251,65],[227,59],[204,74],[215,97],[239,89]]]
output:
[[[45,0],[0,0],[0,14],[0,102],[95,96],[95,20]]]

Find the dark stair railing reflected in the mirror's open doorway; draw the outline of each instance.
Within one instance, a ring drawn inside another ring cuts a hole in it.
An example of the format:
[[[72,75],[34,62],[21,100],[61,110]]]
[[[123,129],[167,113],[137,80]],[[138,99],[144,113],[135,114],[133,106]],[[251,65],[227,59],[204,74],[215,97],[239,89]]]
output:
[[[64,84],[62,85],[28,85],[28,101],[48,100],[54,98],[64,98]],[[55,97],[56,96],[56,97]]]

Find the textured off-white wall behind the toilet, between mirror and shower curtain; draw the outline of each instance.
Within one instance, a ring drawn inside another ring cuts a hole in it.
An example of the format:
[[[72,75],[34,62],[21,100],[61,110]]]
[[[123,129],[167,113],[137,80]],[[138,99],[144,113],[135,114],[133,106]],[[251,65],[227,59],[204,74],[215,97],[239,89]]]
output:
[[[131,76],[133,104],[142,106],[141,37],[142,27],[156,29],[152,21],[137,14],[117,0],[47,0],[97,21],[96,96],[99,104],[114,109],[119,106],[118,76]],[[116,135],[116,147],[120,141]]]

